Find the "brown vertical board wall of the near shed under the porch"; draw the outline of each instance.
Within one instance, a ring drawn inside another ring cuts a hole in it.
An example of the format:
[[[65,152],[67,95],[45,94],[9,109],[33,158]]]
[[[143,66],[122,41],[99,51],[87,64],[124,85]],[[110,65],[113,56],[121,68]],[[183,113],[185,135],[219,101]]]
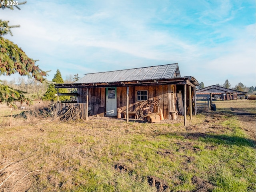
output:
[[[137,100],[137,91],[148,91],[148,99],[157,100],[162,109],[164,119],[170,118],[170,111],[176,110],[176,86],[157,85],[157,86],[129,86],[129,111],[139,111],[140,104],[144,101]],[[126,86],[116,88],[117,108],[126,111]],[[98,108],[106,109],[106,88],[89,88],[88,107],[92,108],[91,114],[98,114]],[[86,88],[78,88],[77,102],[86,102]]]

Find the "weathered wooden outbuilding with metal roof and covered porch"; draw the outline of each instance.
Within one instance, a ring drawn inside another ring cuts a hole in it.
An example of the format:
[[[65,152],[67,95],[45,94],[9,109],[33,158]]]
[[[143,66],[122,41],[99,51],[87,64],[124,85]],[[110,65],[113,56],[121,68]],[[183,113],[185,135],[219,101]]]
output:
[[[198,85],[192,76],[181,77],[175,63],[85,74],[74,83],[56,84],[56,88],[77,88],[77,103],[87,103],[92,115],[116,117],[119,109],[128,122],[145,100],[155,100],[164,119],[172,119],[172,113],[179,111],[186,125],[186,115],[192,118],[196,114]]]

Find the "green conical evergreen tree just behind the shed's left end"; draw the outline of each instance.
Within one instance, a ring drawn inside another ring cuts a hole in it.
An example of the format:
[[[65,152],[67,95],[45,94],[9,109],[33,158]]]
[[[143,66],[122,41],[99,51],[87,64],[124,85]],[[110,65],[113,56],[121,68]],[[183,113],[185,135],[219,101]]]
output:
[[[56,101],[57,100],[57,96],[55,96],[55,94],[57,94],[57,89],[55,88],[54,84],[64,83],[64,80],[61,76],[59,69],[57,69],[56,74],[54,75],[54,77],[52,79],[52,82],[54,82],[54,83],[49,84],[48,89],[47,89],[46,93],[44,94],[43,100],[48,100],[48,101]],[[68,90],[61,88],[61,89],[59,89],[59,93],[68,93]],[[59,96],[60,101],[65,101],[65,100],[69,100],[69,99],[70,99],[70,96]]]

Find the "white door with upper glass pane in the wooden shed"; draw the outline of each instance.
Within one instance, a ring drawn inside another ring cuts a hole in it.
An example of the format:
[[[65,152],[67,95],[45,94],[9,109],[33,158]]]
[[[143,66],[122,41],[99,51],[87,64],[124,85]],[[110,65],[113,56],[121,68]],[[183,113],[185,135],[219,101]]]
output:
[[[106,88],[106,115],[116,116],[116,87]]]

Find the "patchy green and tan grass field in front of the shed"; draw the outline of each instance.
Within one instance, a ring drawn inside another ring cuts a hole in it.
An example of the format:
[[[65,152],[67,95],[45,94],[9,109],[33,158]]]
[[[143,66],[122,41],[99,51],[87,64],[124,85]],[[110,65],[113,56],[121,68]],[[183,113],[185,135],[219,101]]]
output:
[[[255,101],[215,103],[187,127],[183,116],[157,124],[27,116],[9,126],[10,109],[0,108],[0,191],[254,192]]]

